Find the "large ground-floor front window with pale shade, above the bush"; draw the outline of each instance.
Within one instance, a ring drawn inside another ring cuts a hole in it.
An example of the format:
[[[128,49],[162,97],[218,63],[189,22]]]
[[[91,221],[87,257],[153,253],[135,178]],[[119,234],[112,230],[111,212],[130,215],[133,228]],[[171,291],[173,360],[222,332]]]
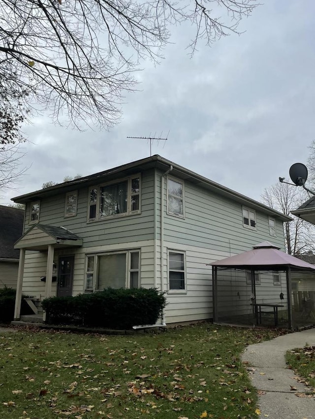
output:
[[[140,251],[120,251],[87,256],[86,291],[140,286]]]

